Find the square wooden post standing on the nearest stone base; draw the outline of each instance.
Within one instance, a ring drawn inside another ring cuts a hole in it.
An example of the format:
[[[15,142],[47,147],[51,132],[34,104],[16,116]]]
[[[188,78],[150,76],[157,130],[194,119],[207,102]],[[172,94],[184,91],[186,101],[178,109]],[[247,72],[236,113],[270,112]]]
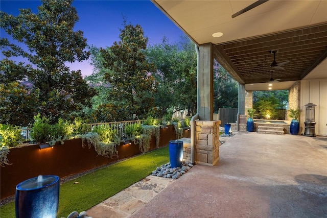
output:
[[[199,46],[199,119],[214,118],[214,56],[213,44]]]

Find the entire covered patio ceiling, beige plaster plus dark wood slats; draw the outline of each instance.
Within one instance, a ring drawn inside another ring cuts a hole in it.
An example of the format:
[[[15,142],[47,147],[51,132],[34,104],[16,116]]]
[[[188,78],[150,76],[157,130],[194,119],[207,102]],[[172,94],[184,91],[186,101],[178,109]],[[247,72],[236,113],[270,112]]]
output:
[[[214,44],[215,59],[246,90],[289,89],[295,81],[327,78],[327,1],[152,0],[198,45]],[[213,34],[221,32],[221,37]],[[284,70],[270,67],[276,62]]]

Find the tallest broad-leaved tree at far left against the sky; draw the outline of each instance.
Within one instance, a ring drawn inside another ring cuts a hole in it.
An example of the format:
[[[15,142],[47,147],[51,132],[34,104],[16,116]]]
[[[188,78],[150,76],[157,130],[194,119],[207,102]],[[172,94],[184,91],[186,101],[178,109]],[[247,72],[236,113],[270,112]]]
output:
[[[39,97],[39,104],[31,113],[40,112],[55,123],[60,117],[80,115],[82,106],[89,105],[95,90],[86,84],[80,70],[70,71],[65,66],[66,62],[83,61],[89,56],[83,32],[74,31],[78,15],[72,1],[41,2],[37,13],[20,9],[15,17],[0,12],[1,28],[27,46],[25,49],[1,38],[2,53],[6,57],[1,61],[4,75],[1,82],[13,82],[10,81],[13,76],[16,81],[30,81],[31,93],[38,90]],[[10,61],[11,57],[25,58],[31,65],[17,64]]]

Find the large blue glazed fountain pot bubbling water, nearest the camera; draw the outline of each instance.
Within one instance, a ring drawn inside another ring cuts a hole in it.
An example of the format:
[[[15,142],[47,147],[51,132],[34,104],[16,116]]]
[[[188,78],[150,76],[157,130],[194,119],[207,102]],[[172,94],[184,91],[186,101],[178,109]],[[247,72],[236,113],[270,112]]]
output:
[[[56,217],[59,203],[59,177],[34,177],[16,186],[16,218]]]

